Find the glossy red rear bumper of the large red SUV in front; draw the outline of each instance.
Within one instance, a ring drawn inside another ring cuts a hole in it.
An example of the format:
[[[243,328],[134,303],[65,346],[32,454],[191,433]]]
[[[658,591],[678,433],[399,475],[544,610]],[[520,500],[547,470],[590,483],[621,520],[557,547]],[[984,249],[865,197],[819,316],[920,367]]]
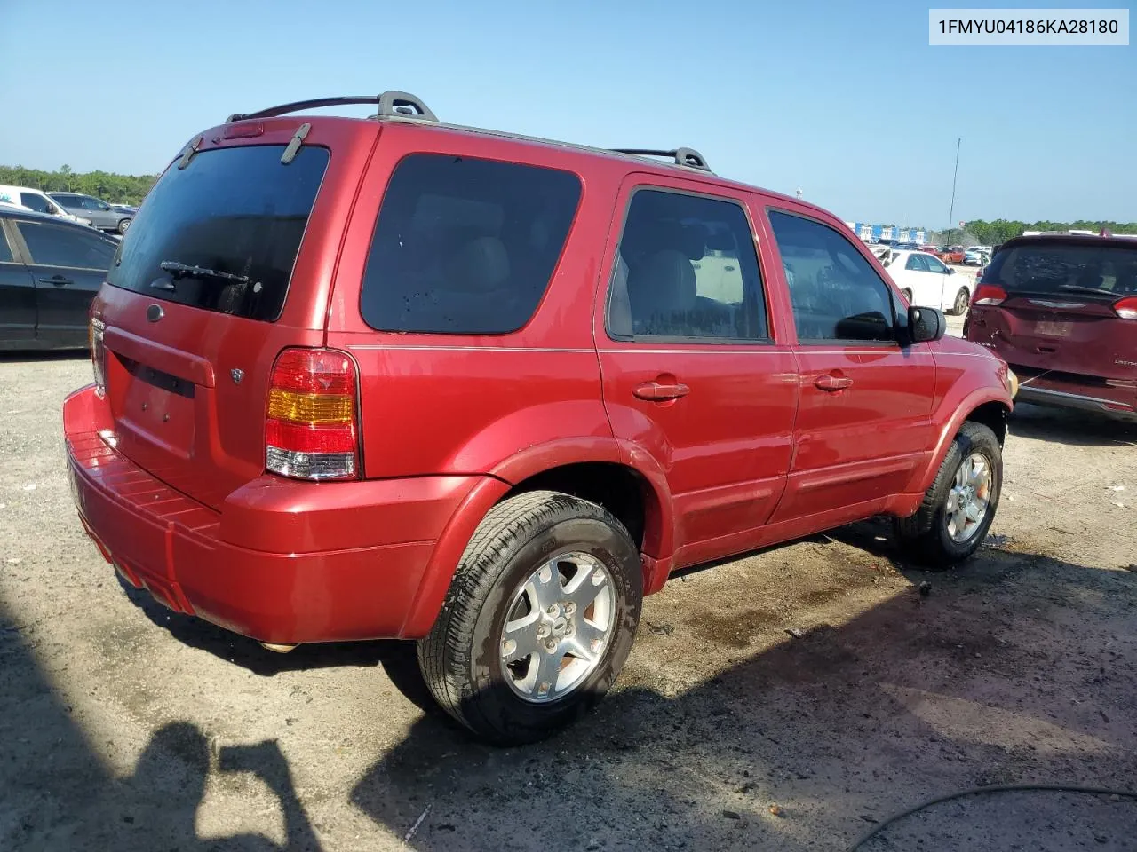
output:
[[[64,403],[72,493],[103,557],[171,609],[262,642],[401,636],[434,542],[480,479],[263,476],[215,511],[116,452],[109,427],[93,387]]]

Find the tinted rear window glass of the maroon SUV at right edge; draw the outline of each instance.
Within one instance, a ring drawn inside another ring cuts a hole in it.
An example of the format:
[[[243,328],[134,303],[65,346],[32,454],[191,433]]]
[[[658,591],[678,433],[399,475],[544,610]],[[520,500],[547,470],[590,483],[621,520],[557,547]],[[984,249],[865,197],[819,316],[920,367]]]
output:
[[[1137,293],[1137,241],[1122,245],[1028,243],[1001,250],[985,284],[1009,293],[1064,293],[1113,299]]]

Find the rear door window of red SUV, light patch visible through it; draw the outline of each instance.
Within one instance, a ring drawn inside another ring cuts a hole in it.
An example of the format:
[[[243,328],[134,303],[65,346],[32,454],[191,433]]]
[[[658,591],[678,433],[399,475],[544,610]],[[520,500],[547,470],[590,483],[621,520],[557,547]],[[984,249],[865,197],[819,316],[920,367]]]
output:
[[[762,276],[742,208],[637,191],[620,240],[607,327],[625,340],[765,340]]]

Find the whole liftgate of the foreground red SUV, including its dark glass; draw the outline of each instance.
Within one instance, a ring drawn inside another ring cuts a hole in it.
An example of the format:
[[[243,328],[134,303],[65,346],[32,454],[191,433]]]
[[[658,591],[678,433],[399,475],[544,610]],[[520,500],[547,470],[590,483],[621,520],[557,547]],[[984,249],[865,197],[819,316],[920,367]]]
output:
[[[100,294],[118,451],[215,508],[264,471],[273,356],[323,334],[281,317],[330,153],[305,145],[283,164],[284,150],[207,149],[172,165]],[[291,286],[299,300],[321,284]]]

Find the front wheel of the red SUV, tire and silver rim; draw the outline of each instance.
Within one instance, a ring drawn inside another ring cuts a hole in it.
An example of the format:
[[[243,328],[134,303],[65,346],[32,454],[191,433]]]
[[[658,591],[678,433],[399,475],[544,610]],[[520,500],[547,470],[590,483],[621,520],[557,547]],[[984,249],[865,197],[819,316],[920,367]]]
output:
[[[987,537],[1002,487],[998,438],[987,426],[964,423],[920,509],[896,521],[902,551],[914,562],[940,570],[970,558]]]

